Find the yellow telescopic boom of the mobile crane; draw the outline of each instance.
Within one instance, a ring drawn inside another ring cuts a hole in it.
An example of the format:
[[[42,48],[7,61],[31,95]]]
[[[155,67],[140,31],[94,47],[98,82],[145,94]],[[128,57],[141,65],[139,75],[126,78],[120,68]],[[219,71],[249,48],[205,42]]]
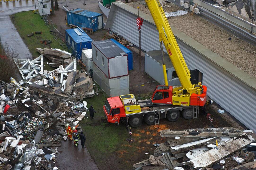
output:
[[[165,17],[161,4],[158,0],[145,0],[145,2],[159,31],[159,41],[164,43],[181,85],[184,89],[193,88],[190,81],[190,71],[188,70],[168,20]],[[165,82],[165,84],[168,84],[168,82]]]

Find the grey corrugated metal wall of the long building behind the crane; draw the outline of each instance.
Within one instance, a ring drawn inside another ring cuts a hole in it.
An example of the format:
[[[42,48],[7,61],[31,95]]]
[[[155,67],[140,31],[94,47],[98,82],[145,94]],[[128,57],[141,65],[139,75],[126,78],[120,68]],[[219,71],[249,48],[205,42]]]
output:
[[[120,33],[125,39],[138,46],[138,28],[134,24],[137,18],[136,13],[127,12],[117,5],[115,5],[113,9],[115,9],[115,11],[110,11],[110,14],[114,12],[115,18],[111,19],[114,21],[113,23],[111,21],[110,25],[107,22],[106,25],[110,26],[111,31]],[[126,24],[124,25],[122,23]],[[151,51],[160,49],[159,35],[154,24],[144,19],[141,33],[141,47],[143,50]],[[256,90],[250,88],[247,84],[243,83],[214,62],[206,59],[205,56],[190,48],[177,37],[176,40],[189,69],[198,69],[202,72],[202,82],[207,86],[207,95],[245,126],[256,132],[256,124],[254,121],[256,120]],[[164,49],[164,51],[166,50]]]

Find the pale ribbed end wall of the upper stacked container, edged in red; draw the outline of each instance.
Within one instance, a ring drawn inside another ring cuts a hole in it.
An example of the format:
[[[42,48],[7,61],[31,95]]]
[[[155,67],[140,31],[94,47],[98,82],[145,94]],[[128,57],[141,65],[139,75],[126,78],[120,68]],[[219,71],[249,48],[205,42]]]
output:
[[[128,75],[127,55],[109,59],[109,78]]]

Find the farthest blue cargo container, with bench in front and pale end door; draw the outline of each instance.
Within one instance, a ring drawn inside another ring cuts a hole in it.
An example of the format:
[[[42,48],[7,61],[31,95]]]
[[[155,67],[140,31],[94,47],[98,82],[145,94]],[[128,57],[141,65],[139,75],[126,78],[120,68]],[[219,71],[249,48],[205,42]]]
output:
[[[102,14],[80,8],[67,11],[67,20],[68,25],[87,27],[93,29],[93,31],[103,28]]]

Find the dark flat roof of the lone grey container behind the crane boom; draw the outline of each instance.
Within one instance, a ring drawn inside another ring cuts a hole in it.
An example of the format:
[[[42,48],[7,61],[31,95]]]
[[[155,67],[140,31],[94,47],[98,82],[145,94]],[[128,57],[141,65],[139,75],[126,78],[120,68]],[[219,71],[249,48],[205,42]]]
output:
[[[149,56],[151,56],[159,64],[161,64],[161,65],[163,64],[161,50],[147,51],[145,53],[148,54]],[[166,52],[164,52],[164,63],[166,65],[166,69],[173,68],[173,63],[170,60],[169,55]]]

